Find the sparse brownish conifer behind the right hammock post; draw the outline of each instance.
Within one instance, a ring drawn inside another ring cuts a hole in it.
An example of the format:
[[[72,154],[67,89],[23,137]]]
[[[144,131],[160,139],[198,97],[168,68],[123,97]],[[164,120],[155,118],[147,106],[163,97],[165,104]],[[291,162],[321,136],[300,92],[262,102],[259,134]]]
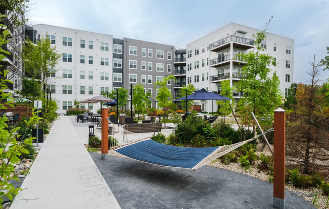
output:
[[[292,165],[301,165],[301,170],[308,174],[315,171],[327,171],[329,161],[327,151],[329,141],[326,140],[328,134],[328,119],[323,116],[324,104],[323,94],[319,91],[323,85],[318,85],[319,64],[309,62],[312,66],[309,73],[309,84],[299,84],[296,97],[296,113],[291,114],[291,120],[287,126],[287,159],[292,161]],[[326,149],[326,151],[324,151]]]

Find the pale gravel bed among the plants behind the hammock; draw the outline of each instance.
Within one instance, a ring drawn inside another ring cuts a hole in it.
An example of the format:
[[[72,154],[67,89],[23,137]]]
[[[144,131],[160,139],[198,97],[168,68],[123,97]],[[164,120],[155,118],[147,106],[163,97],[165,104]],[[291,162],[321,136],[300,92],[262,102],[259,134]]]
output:
[[[100,151],[98,153],[100,153]],[[260,152],[256,152],[256,153],[258,155],[260,155]],[[267,147],[261,153],[263,153],[265,155],[270,155],[271,154]],[[112,156],[125,157],[125,156],[115,152],[114,150],[109,150],[108,154],[112,155]],[[207,165],[217,167],[217,168],[226,169],[226,170],[230,170],[230,171],[234,171],[234,172],[238,172],[238,173],[242,173],[242,174],[245,174],[245,175],[249,175],[249,176],[252,176],[252,177],[262,179],[264,181],[268,181],[268,173],[259,170],[256,167],[257,163],[253,164],[248,170],[245,170],[242,166],[240,166],[239,162],[234,162],[234,163],[230,163],[229,165],[225,165],[225,164],[221,163],[219,160],[216,160],[216,161],[212,161],[212,162],[208,163]],[[287,184],[286,189],[288,189],[289,191],[295,192],[297,195],[299,195],[300,197],[302,197],[306,201],[313,204],[313,196],[316,193],[316,188],[296,188],[292,184]],[[329,205],[326,205],[328,197],[323,195],[321,189],[318,189],[317,193],[318,193],[317,194],[317,202],[314,203],[314,205],[317,208],[323,208],[323,209],[329,208]]]

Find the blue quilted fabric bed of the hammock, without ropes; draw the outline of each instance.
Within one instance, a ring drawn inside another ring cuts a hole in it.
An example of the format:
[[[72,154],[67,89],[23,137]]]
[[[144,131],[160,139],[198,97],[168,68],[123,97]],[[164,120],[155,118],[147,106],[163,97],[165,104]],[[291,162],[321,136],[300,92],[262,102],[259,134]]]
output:
[[[151,139],[139,141],[116,149],[129,158],[156,165],[196,169],[208,156],[221,147],[175,147]]]

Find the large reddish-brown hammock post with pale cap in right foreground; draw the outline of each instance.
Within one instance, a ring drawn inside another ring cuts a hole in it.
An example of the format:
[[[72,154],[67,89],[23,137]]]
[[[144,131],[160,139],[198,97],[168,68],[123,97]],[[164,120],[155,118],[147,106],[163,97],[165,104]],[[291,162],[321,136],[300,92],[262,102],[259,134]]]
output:
[[[286,111],[274,111],[273,207],[285,208]]]

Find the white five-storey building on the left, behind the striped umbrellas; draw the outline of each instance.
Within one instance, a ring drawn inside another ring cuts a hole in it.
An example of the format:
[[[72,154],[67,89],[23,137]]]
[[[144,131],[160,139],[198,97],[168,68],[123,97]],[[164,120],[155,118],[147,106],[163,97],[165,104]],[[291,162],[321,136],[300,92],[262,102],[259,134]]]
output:
[[[113,36],[44,24],[33,25],[35,39],[48,38],[63,57],[50,69],[51,97],[58,100],[59,114],[84,100],[113,88]],[[55,70],[58,70],[55,72]],[[99,104],[81,103],[81,108],[99,109]]]

